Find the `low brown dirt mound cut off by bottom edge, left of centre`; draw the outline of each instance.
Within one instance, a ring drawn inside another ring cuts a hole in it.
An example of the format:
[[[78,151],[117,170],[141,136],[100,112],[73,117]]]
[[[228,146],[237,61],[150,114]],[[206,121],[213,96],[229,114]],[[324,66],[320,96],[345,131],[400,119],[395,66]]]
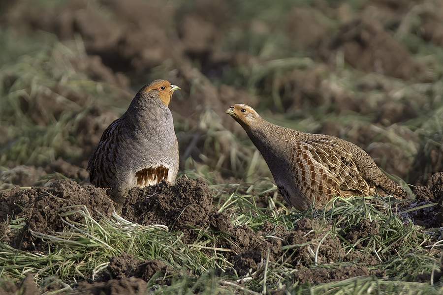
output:
[[[139,295],[145,294],[147,284],[138,278],[109,280],[106,282],[80,282],[72,295]]]

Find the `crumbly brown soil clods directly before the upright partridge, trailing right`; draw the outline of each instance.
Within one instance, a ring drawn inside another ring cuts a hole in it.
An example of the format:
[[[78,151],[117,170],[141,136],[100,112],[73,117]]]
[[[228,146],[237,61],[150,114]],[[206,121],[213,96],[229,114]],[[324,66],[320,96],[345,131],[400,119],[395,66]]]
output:
[[[281,252],[281,241],[265,240],[249,227],[233,226],[229,217],[218,213],[212,205],[213,196],[202,180],[179,178],[173,186],[165,182],[129,192],[122,215],[127,220],[144,225],[164,224],[170,230],[183,231],[185,240],[194,241],[197,232],[205,226],[223,233],[216,246],[231,249],[227,254],[234,268],[246,274],[266,257],[271,249],[271,260]]]

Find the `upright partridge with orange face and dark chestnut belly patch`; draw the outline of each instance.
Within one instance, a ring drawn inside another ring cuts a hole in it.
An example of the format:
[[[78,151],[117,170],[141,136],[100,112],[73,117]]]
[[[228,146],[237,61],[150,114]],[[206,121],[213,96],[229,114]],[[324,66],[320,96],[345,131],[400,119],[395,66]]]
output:
[[[110,188],[120,207],[132,187],[175,182],[179,150],[168,106],[177,89],[166,80],[140,89],[126,113],[105,129],[89,160],[91,183]]]

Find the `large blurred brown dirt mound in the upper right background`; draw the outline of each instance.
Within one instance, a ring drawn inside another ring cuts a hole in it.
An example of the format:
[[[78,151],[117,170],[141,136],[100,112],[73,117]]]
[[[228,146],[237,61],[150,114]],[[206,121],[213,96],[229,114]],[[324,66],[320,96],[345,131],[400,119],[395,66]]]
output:
[[[365,72],[405,80],[423,72],[407,49],[377,22],[355,20],[345,24],[332,39],[328,51],[329,54],[343,51],[346,62]]]

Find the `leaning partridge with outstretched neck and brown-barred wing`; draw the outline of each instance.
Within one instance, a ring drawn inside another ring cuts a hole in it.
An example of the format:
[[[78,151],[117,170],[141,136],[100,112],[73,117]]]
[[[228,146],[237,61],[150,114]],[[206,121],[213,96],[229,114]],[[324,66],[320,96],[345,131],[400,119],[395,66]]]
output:
[[[370,155],[348,141],[272,124],[244,104],[235,104],[225,113],[245,129],[289,206],[322,208],[334,196],[368,195],[380,189],[380,193],[406,197]]]

